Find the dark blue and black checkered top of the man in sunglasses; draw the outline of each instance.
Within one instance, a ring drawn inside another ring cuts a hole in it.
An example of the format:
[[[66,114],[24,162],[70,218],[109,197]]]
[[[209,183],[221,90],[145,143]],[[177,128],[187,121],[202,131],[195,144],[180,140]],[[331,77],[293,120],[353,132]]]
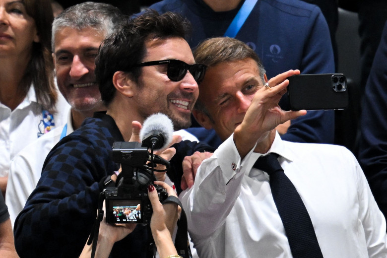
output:
[[[119,169],[112,161],[112,145],[123,140],[113,118],[96,113],[54,146],[36,189],[15,221],[15,246],[20,257],[79,256],[96,217],[102,182]],[[205,147],[190,141],[176,147],[179,153],[171,160],[173,170],[168,175],[180,189],[183,158]],[[147,240],[146,227],[138,225],[114,245],[112,257],[130,254],[145,258]]]

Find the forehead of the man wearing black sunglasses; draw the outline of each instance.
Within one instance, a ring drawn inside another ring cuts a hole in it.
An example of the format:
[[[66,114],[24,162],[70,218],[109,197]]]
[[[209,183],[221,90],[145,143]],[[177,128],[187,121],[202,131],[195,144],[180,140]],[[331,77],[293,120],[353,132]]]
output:
[[[145,41],[146,54],[142,62],[177,59],[194,64],[194,56],[187,41],[173,37]]]

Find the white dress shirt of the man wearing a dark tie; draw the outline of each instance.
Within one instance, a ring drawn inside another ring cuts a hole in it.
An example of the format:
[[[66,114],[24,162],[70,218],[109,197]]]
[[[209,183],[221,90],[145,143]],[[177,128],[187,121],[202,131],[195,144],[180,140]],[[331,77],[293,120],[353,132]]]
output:
[[[327,144],[294,143],[278,133],[285,174],[309,212],[325,258],[386,258],[386,221],[352,153]],[[205,160],[180,198],[200,258],[291,258],[268,175],[241,160],[230,136]]]

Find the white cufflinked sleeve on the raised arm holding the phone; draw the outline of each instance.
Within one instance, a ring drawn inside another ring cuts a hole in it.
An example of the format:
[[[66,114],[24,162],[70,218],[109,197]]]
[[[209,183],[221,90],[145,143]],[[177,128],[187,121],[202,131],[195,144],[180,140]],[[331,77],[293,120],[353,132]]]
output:
[[[179,196],[190,234],[208,236],[224,223],[240,193],[243,165],[253,150],[242,162],[231,135],[212,157],[203,161],[194,186]]]

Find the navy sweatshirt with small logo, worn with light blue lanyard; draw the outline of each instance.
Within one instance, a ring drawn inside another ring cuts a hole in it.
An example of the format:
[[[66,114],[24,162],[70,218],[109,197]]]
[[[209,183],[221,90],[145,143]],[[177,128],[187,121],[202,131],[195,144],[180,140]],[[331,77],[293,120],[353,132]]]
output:
[[[188,42],[194,48],[206,38],[223,36],[242,4],[243,1],[231,11],[214,12],[202,0],[164,0],[149,8],[160,13],[174,11],[187,17],[193,24]],[[258,0],[236,38],[256,51],[268,78],[289,69],[300,69],[301,73],[334,72],[329,29],[316,5],[299,0]],[[290,109],[286,94],[280,106]],[[202,129],[194,131],[194,135],[208,139]],[[333,143],[333,111],[308,111],[306,116],[292,121],[282,138],[293,142]],[[209,140],[219,142],[216,138]]]

